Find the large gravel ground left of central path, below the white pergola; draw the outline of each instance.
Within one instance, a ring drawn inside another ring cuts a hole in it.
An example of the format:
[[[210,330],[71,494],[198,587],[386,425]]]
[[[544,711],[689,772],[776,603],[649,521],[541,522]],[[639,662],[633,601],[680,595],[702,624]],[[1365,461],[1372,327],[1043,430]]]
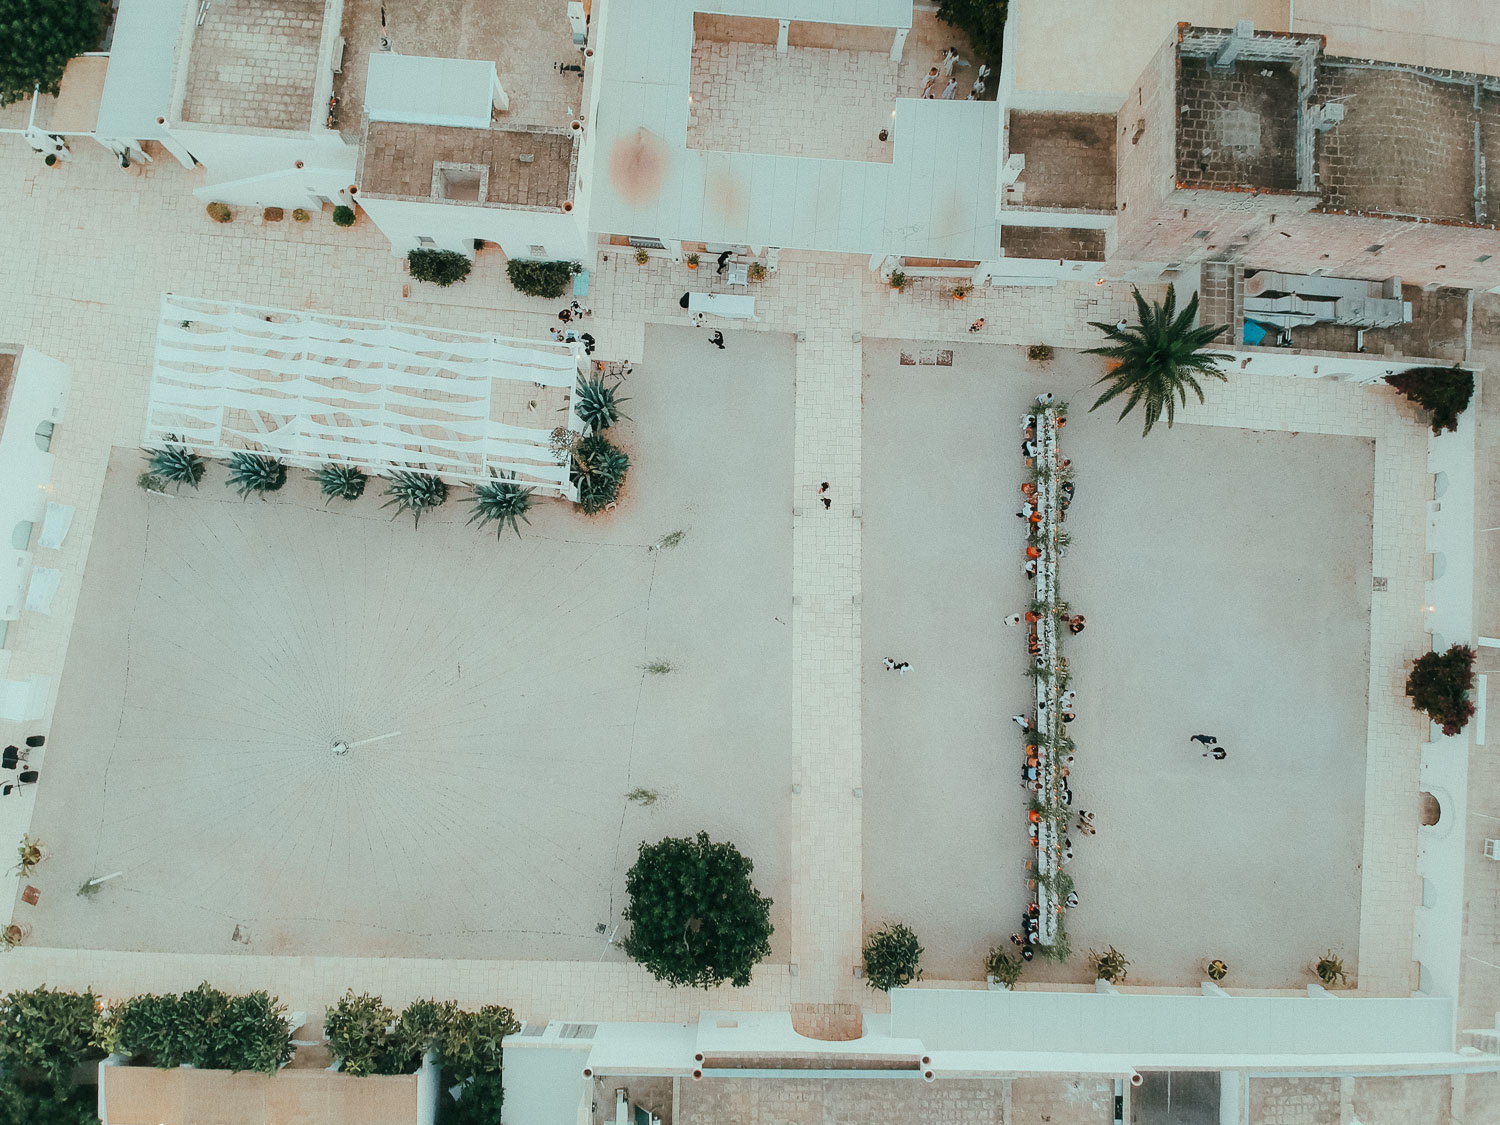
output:
[[[458,489],[420,530],[376,486],[324,508],[302,474],[266,502],[220,466],[148,496],[116,450],[39,786],[33,940],[620,957],[596,926],[638,843],[699,828],[776,897],[792,344],[732,348],[652,328],[622,392],[620,512],[546,502],[520,540],[465,526]]]

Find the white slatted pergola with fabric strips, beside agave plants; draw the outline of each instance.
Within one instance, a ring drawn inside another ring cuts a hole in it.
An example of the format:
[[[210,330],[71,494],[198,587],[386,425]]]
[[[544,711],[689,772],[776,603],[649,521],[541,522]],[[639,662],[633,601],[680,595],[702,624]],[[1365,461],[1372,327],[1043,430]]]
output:
[[[579,362],[566,344],[165,294],[146,444],[470,483],[514,472],[574,498],[552,429],[582,429]],[[525,416],[526,387],[561,388],[566,417],[502,422]]]

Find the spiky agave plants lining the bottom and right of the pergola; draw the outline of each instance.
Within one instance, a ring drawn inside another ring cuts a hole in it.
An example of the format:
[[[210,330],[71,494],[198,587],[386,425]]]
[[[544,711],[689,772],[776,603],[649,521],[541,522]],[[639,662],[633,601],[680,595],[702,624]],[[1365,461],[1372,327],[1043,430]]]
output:
[[[552,430],[552,453],[558,464],[568,462],[568,476],[578,488],[579,507],[585,514],[592,516],[610,508],[620,500],[626,474],[630,471],[628,454],[604,436],[604,430],[622,417],[620,402],[624,400],[616,398],[615,387],[603,376],[584,378],[574,392],[574,408],[584,430],[566,428]],[[208,470],[208,460],[202,454],[172,435],[168,435],[166,444],[160,448],[142,452],[147,468],[136,483],[150,492],[164,492],[168,486],[180,490],[183,484],[196,489]],[[226,460],[226,468],[225,484],[236,489],[242,500],[252,495],[264,496],[286,484],[286,465],[266,453],[234,453]],[[369,474],[357,465],[330,462],[309,474],[309,480],[316,482],[328,502],[356,501],[364,495]],[[410,512],[412,525],[420,525],[424,512],[440,508],[448,501],[450,486],[435,472],[394,470],[384,477],[384,482],[386,502],[381,507],[394,507],[393,519],[402,512]],[[520,524],[531,522],[526,513],[531,510],[534,489],[518,484],[513,472],[468,488],[468,501],[472,506],[470,524],[477,522],[482,528],[495,524],[496,536],[508,526],[519,536]]]

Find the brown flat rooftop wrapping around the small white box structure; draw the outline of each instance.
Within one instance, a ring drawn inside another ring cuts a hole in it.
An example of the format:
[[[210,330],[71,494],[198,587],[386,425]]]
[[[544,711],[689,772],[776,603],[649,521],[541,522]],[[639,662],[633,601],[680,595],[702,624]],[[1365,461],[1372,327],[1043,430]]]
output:
[[[561,0],[486,0],[458,9],[423,0],[345,0],[340,34],[344,68],[333,76],[333,93],[345,129],[358,128],[369,57],[382,50],[495,63],[510,98],[501,120],[510,124],[566,126],[582,110],[582,72],[561,69],[584,64]]]

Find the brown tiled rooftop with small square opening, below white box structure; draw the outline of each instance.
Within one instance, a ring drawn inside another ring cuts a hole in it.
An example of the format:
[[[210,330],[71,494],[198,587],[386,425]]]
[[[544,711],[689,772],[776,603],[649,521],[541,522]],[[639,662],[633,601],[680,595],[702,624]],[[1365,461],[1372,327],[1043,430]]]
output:
[[[561,208],[572,198],[573,147],[562,128],[370,122],[360,184],[368,195]]]

